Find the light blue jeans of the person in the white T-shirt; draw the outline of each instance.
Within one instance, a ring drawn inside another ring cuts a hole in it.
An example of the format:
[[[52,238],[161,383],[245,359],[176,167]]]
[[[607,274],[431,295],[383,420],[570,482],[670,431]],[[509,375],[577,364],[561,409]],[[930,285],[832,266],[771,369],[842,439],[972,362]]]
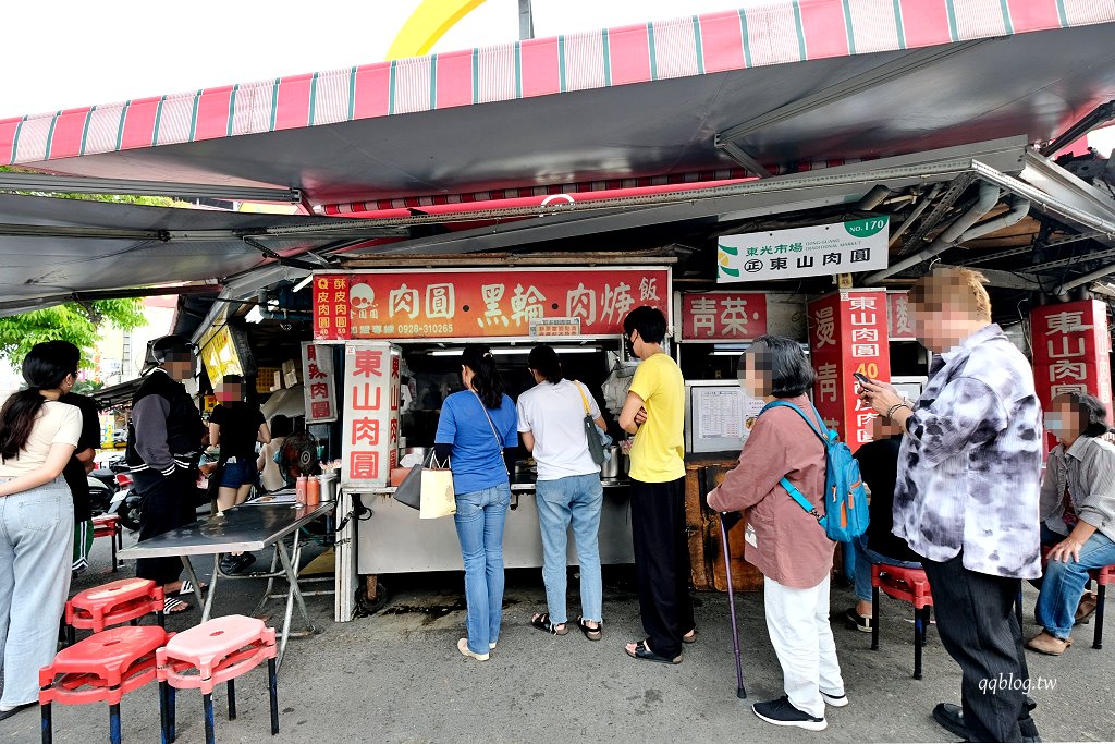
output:
[[[542,580],[546,584],[550,621],[569,620],[565,609],[565,554],[569,525],[573,525],[576,558],[581,564],[581,617],[600,622],[603,618],[603,582],[600,579],[600,508],[604,489],[600,475],[570,475],[535,485],[539,525],[542,528]]]

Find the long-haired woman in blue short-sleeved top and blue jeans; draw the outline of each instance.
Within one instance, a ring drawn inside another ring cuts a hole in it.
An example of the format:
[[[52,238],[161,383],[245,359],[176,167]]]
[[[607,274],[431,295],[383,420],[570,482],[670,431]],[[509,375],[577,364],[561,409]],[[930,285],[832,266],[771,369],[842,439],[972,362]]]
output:
[[[464,348],[460,379],[465,389],[442,403],[434,442],[438,458],[448,457],[453,471],[453,519],[465,563],[468,637],[457,641],[457,650],[486,661],[500,639],[503,617],[503,523],[511,504],[507,473],[518,438],[515,404],[503,392],[488,347]]]

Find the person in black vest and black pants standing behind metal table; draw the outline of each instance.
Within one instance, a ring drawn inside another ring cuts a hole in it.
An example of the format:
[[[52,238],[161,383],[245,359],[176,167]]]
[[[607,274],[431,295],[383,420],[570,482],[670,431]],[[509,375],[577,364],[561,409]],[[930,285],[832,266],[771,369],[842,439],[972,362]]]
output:
[[[193,348],[181,336],[164,336],[152,345],[158,366],[139,385],[132,400],[126,462],[143,494],[139,540],[190,524],[195,519],[197,460],[205,427],[183,381],[197,370]],[[166,591],[166,611],[190,606],[175,593],[183,589],[178,558],[144,558],[136,576]]]

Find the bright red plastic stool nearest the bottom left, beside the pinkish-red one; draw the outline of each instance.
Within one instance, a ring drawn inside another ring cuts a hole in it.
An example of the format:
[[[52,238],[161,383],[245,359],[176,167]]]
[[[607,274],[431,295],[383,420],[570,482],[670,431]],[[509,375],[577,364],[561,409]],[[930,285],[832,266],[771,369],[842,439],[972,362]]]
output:
[[[39,670],[42,742],[54,740],[51,703],[108,703],[108,740],[120,743],[120,698],[158,677],[155,651],[169,636],[158,626],[112,628],[64,648]],[[167,688],[158,695],[163,735],[167,734]],[[164,738],[164,741],[166,741]]]

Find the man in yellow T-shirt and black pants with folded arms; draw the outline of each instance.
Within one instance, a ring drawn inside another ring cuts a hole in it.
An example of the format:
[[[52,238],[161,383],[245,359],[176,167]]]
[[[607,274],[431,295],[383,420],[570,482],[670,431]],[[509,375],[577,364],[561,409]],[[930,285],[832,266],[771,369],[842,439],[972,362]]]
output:
[[[666,317],[641,307],[623,319],[623,334],[641,359],[620,426],[631,446],[631,535],[639,611],[647,638],[627,645],[628,656],[681,663],[681,644],[697,639],[689,599],[686,537],[685,380],[662,351]]]

